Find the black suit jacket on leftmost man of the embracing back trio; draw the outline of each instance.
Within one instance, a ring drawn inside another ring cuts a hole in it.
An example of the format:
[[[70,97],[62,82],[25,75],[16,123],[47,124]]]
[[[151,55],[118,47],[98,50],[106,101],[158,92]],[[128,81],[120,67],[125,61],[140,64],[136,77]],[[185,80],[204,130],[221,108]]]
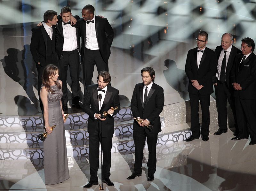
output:
[[[36,64],[40,62],[40,65],[45,65],[45,59],[47,54],[47,32],[44,26],[32,28],[32,36],[30,42],[30,52],[33,56]],[[52,26],[52,38],[55,38],[56,28]]]

